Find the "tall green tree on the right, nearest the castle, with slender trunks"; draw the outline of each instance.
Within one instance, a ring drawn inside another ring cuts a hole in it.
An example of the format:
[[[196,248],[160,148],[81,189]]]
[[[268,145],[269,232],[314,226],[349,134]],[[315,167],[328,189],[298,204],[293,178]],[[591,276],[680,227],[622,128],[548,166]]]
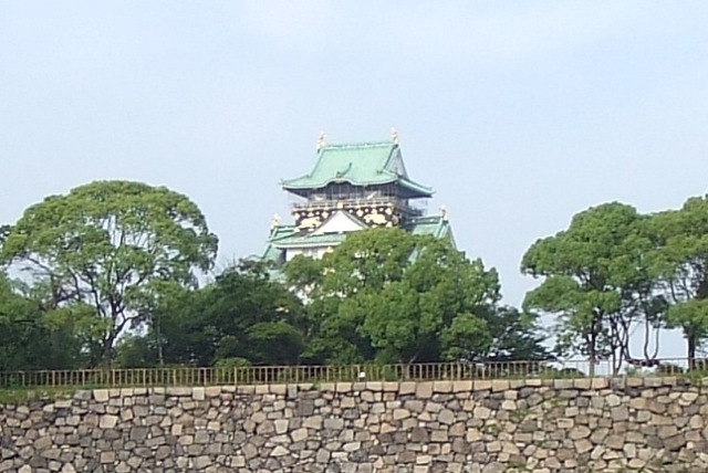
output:
[[[631,325],[655,303],[645,224],[631,206],[594,207],[573,217],[568,230],[537,241],[521,262],[523,273],[543,277],[524,308],[555,315],[556,351],[587,356],[591,374],[605,357],[620,369],[629,358]]]

